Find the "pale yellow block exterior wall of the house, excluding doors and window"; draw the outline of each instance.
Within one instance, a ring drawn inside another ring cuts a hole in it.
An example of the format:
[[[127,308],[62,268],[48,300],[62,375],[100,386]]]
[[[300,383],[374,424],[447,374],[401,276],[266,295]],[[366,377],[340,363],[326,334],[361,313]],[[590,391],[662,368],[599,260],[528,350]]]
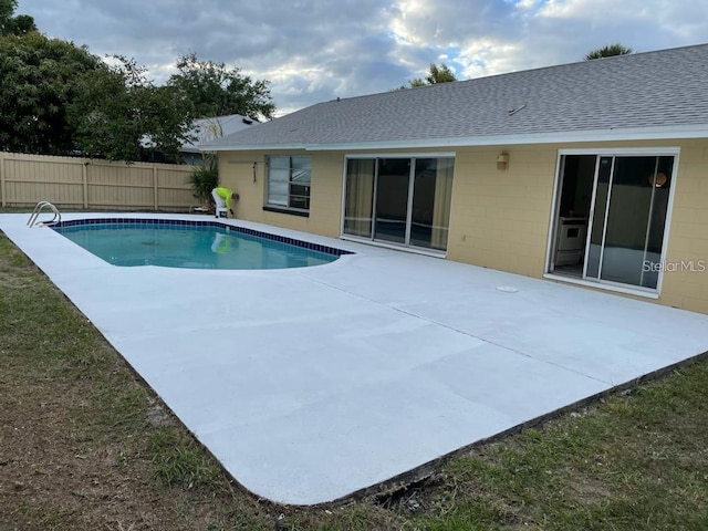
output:
[[[695,271],[666,271],[657,302],[708,313],[708,140],[612,142],[530,146],[367,150],[367,154],[456,153],[447,258],[534,278],[545,272],[549,226],[560,149],[680,148],[666,262],[691,261]],[[500,153],[506,170],[497,168]],[[291,152],[303,154],[305,152]],[[239,217],[324,236],[341,235],[344,157],[356,152],[312,152],[309,218],[263,211],[267,155],[220,154],[221,179],[241,194]],[[252,163],[258,162],[257,183]],[[679,268],[680,269],[680,268]]]

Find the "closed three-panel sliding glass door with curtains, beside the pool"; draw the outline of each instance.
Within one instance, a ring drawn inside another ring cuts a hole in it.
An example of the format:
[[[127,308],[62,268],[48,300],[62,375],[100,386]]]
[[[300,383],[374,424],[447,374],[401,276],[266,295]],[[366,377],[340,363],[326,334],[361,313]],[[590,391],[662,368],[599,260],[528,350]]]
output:
[[[446,250],[455,159],[348,158],[344,235]]]

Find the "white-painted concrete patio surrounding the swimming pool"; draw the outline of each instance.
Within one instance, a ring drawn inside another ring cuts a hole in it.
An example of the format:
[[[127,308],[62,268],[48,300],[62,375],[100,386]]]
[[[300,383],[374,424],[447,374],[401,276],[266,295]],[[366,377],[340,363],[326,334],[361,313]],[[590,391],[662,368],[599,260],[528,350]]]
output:
[[[154,217],[63,218],[108,216]],[[241,485],[281,503],[346,497],[708,350],[708,315],[396,250],[229,220],[355,254],[117,268],[27,219],[0,229]]]

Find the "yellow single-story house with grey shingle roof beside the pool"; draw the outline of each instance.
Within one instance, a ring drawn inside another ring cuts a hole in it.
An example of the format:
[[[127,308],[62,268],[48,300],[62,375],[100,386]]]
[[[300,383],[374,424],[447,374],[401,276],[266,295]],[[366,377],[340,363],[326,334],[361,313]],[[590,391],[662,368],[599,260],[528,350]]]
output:
[[[320,103],[218,138],[241,218],[708,313],[708,44]]]

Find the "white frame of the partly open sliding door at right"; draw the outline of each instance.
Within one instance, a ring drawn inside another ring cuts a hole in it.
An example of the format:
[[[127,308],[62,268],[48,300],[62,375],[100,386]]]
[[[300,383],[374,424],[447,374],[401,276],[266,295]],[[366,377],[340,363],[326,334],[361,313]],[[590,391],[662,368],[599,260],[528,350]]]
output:
[[[585,236],[585,256],[583,258],[583,277],[582,278],[572,278],[560,274],[554,274],[551,270],[553,267],[553,253],[555,252],[555,237],[556,237],[556,219],[559,215],[559,210],[561,208],[561,187],[563,185],[563,168],[564,168],[564,156],[568,155],[593,155],[596,157],[595,163],[595,175],[593,177],[593,192],[591,198],[591,211],[587,217],[587,233]],[[597,212],[595,212],[595,198],[597,192],[597,176],[600,171],[600,160],[603,157],[611,157],[613,159],[613,170],[610,176],[610,188],[607,190],[607,205],[610,204],[610,199],[612,196],[612,181],[614,179],[614,165],[615,159],[617,157],[674,157],[674,166],[671,173],[671,185],[669,187],[669,196],[668,196],[668,205],[666,208],[666,222],[664,227],[664,237],[662,239],[662,256],[660,263],[666,263],[666,251],[668,248],[670,226],[671,226],[671,214],[674,208],[674,194],[676,192],[676,179],[679,173],[679,158],[680,158],[680,148],[679,147],[641,147],[641,148],[581,148],[581,149],[559,149],[558,158],[555,164],[555,179],[553,184],[553,195],[551,200],[551,212],[549,217],[549,237],[546,242],[546,254],[545,254],[545,266],[544,266],[544,278],[549,278],[552,280],[560,280],[569,283],[590,285],[594,288],[601,288],[608,291],[617,291],[621,293],[636,294],[642,296],[648,296],[652,299],[657,299],[659,293],[662,292],[662,284],[664,280],[664,271],[658,271],[658,280],[656,284],[656,289],[652,288],[642,288],[633,284],[624,284],[618,282],[613,282],[608,280],[602,280],[597,278],[587,279],[587,253],[590,251],[590,239],[591,239],[591,227],[594,220],[594,217]],[[603,243],[605,239],[605,232],[607,230],[607,208],[603,212],[605,217],[603,221]],[[603,244],[604,247],[604,244]]]

